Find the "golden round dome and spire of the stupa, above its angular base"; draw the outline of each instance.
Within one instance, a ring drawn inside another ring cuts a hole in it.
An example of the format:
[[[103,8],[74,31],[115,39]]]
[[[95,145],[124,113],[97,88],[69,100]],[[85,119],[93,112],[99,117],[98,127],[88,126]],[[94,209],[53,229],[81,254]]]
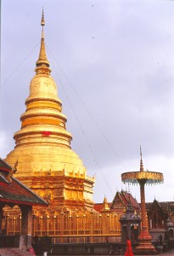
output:
[[[31,79],[26,110],[20,117],[21,129],[14,133],[15,148],[6,161],[14,166],[18,160],[17,177],[38,172],[75,172],[86,174],[79,156],[70,148],[72,139],[66,131],[67,121],[58,97],[57,86],[51,77],[46,55],[42,13],[42,39],[36,75]]]

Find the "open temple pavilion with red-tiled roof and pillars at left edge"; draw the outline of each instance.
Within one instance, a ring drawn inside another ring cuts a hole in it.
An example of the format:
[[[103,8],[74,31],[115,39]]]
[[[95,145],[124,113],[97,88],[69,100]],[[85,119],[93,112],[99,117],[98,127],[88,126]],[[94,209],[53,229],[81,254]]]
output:
[[[48,207],[48,203],[23,183],[20,183],[14,177],[14,172],[16,172],[16,169],[0,158],[0,248],[18,247],[20,248],[18,255],[28,255],[26,248],[31,247],[32,207],[39,206],[44,208]],[[14,211],[18,209],[17,219],[12,218],[12,214],[11,216],[7,214],[13,207]],[[6,211],[4,211],[4,208],[6,208]],[[20,236],[8,236],[8,230],[10,228],[15,229],[14,223],[16,221],[20,227]],[[9,253],[10,255],[17,254],[17,252],[10,251],[10,249],[4,249],[4,252],[0,249],[0,253],[1,255],[3,255],[2,253],[4,255],[9,255]]]

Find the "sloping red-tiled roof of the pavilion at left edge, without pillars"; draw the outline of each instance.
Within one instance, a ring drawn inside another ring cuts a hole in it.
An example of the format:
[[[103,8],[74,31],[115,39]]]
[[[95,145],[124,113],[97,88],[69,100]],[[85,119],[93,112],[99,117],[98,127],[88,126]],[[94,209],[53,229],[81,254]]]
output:
[[[0,158],[0,203],[48,207],[48,203],[18,179],[12,167]]]

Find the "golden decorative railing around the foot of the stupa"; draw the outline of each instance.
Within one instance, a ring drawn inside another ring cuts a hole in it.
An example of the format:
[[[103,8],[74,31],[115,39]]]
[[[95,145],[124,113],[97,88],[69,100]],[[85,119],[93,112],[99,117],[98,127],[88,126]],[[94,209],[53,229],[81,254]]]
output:
[[[3,230],[8,236],[21,233],[20,212],[6,212]],[[32,236],[51,236],[53,243],[115,242],[121,240],[120,216],[114,212],[54,212],[32,215]]]

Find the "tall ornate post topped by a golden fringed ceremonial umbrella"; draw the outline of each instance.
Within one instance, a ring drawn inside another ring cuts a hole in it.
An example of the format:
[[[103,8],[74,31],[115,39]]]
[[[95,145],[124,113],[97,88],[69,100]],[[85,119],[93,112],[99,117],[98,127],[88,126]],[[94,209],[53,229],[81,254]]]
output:
[[[142,214],[142,229],[138,236],[139,245],[136,247],[136,254],[156,254],[156,250],[152,245],[152,237],[149,235],[148,224],[146,220],[146,205],[145,205],[145,185],[163,183],[163,174],[160,172],[145,172],[143,170],[142,151],[140,147],[140,171],[139,172],[125,172],[121,174],[123,183],[139,184],[141,196],[141,214]]]

